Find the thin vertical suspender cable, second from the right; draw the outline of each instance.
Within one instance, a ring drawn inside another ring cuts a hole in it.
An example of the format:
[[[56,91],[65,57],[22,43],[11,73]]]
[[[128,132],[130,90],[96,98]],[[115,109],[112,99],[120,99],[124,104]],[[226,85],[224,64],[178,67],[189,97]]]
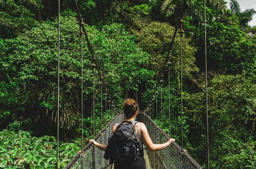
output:
[[[182,89],[182,82],[183,82],[183,70],[182,70],[182,20],[181,20],[181,30],[180,30],[180,34],[181,34],[181,147],[183,150],[183,89]]]

